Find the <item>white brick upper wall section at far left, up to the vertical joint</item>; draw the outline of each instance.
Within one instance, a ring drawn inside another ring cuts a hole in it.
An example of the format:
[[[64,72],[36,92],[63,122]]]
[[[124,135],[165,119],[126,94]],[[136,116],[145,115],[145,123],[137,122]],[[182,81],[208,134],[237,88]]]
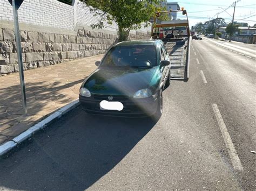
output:
[[[57,0],[24,0],[18,10],[19,22],[73,30],[73,6]],[[0,1],[0,20],[14,20],[8,0]]]

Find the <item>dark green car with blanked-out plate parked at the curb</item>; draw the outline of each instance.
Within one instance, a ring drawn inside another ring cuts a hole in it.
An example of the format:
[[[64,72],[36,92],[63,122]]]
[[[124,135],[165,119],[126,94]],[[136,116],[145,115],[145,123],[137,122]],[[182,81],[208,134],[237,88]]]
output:
[[[156,116],[170,84],[170,58],[161,40],[124,41],[112,46],[80,87],[82,108],[93,114]]]

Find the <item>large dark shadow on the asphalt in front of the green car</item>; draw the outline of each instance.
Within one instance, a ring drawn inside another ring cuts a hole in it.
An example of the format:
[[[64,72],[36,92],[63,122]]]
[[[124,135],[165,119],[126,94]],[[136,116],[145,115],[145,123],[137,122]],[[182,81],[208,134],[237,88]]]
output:
[[[0,160],[0,187],[86,189],[111,171],[155,123],[150,118],[89,115],[78,107]]]

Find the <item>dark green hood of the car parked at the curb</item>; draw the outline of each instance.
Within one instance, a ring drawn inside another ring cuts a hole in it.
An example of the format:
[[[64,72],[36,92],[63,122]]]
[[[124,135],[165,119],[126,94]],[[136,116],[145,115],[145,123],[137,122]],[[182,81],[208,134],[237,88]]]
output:
[[[158,67],[98,68],[82,84],[92,94],[133,96],[136,91],[149,88]]]

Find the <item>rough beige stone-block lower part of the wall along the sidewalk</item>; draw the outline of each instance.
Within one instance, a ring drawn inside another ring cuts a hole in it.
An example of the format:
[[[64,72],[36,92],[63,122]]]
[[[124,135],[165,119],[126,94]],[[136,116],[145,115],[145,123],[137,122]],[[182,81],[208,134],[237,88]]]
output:
[[[103,54],[116,42],[117,34],[78,29],[77,35],[21,31],[23,68],[55,65]],[[149,33],[130,34],[130,40],[149,39]],[[14,30],[0,29],[0,74],[18,72]]]

